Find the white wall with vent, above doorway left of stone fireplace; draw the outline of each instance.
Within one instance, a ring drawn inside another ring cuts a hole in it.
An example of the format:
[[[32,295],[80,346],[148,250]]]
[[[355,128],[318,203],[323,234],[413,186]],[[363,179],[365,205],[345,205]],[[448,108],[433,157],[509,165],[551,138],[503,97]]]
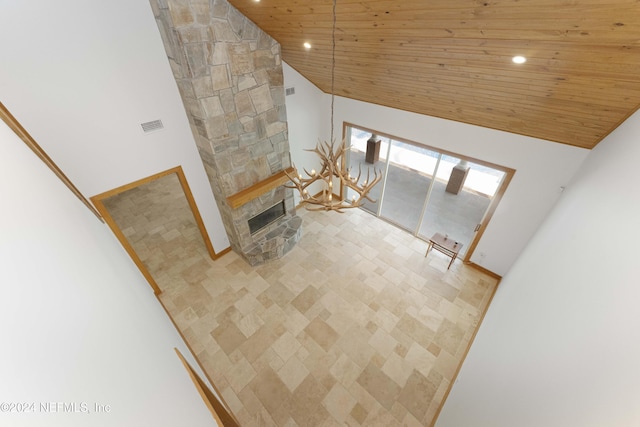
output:
[[[86,197],[182,165],[229,246],[148,1],[0,1],[0,52],[0,100]]]

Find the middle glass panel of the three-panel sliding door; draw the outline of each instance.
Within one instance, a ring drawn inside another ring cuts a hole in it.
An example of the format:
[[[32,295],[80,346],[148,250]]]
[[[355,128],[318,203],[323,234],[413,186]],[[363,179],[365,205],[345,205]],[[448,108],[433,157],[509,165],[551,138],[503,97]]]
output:
[[[391,140],[380,216],[415,233],[438,156],[424,147]]]

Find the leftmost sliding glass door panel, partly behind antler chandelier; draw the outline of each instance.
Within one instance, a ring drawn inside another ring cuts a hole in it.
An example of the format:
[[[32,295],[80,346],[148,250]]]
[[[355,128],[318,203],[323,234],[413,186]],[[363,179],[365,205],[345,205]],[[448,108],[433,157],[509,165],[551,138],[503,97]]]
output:
[[[369,176],[373,179],[374,169],[378,171],[378,173],[385,173],[385,169],[387,168],[387,153],[389,151],[389,139],[377,137],[376,140],[380,140],[378,143],[379,147],[376,148],[375,144],[372,145],[368,143],[368,140],[371,138],[371,132],[365,132],[363,130],[357,128],[349,128],[349,152],[348,152],[348,161],[347,167],[349,168],[349,173],[351,176],[358,176],[358,171],[360,171],[360,183],[362,183],[365,179],[367,179],[367,172],[369,172]],[[372,153],[369,153],[367,156],[367,148],[376,150],[376,153],[379,153],[377,156],[372,156]],[[379,151],[378,151],[379,150]],[[367,157],[371,160],[372,157],[377,157],[373,163],[367,162]],[[384,186],[384,180],[380,181],[376,184],[371,191],[369,192],[369,197],[374,200],[365,201],[362,205],[362,209],[374,214],[378,215],[378,207],[380,205],[382,199],[382,189]],[[351,198],[355,195],[355,192],[349,188],[347,188],[346,200],[351,200]]]

